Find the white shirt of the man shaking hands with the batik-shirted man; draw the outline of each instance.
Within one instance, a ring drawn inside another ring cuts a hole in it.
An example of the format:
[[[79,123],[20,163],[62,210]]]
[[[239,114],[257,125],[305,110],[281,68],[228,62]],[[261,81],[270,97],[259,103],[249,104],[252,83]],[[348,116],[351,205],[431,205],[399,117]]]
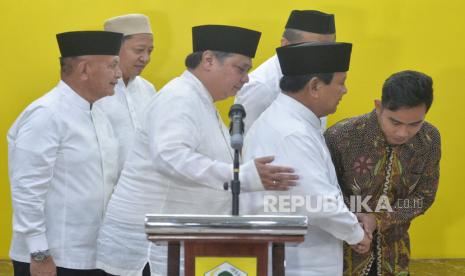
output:
[[[273,164],[294,168],[298,184],[289,191],[242,193],[243,213],[279,215],[266,212],[276,208],[283,215],[308,216],[305,242],[286,246],[286,275],[342,275],[342,241],[360,242],[363,230],[344,204],[320,120],[300,102],[280,94],[254,123],[244,142],[245,161],[264,155],[274,155]],[[271,198],[277,200],[276,204]],[[305,204],[296,204],[295,211],[283,204],[293,200]],[[306,205],[316,200],[337,204],[340,209],[324,211]]]

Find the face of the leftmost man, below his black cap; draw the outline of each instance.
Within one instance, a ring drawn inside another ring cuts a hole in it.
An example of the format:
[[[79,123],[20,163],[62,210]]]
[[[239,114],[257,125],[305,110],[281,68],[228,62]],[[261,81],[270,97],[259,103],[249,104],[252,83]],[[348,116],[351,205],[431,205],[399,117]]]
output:
[[[89,89],[96,100],[113,95],[121,70],[118,66],[118,56],[91,56],[89,57]]]

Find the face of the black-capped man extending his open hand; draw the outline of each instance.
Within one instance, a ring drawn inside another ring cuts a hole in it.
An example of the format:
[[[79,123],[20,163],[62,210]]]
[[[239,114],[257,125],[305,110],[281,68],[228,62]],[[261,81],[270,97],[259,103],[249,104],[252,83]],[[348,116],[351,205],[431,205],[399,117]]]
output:
[[[235,96],[249,81],[250,68],[252,68],[252,59],[240,54],[232,54],[223,61],[216,60],[211,76],[216,82],[212,95],[214,100]]]

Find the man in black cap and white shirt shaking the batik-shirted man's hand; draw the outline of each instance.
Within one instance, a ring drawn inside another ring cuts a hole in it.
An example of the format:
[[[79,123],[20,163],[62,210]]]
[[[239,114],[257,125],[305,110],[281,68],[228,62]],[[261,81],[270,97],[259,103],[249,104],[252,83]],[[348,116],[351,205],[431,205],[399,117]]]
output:
[[[286,246],[286,275],[342,275],[342,242],[361,253],[370,247],[370,238],[344,204],[320,131],[319,118],[334,113],[347,92],[351,49],[352,44],[334,42],[278,48],[282,93],[246,136],[244,160],[274,154],[274,164],[289,164],[300,177],[289,191],[253,192],[242,200],[247,214],[308,216],[305,242]],[[282,204],[286,200],[291,206]]]

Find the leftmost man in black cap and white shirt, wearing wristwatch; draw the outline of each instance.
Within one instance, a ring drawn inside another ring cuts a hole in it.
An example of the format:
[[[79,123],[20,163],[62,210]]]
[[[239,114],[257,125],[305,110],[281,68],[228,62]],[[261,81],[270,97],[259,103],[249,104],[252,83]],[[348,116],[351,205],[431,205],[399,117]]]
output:
[[[96,242],[117,177],[118,146],[103,112],[121,71],[122,34],[57,35],[61,81],[8,132],[15,275],[102,275]]]

